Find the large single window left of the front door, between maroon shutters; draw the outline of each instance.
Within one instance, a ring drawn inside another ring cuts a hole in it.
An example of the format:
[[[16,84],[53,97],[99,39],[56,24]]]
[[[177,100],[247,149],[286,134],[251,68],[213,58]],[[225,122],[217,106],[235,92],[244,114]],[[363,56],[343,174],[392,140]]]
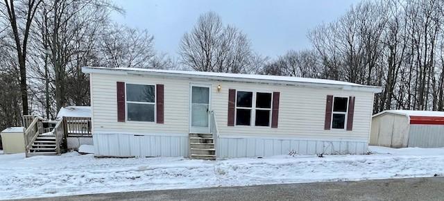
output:
[[[153,121],[155,86],[126,84],[126,118],[128,121]]]

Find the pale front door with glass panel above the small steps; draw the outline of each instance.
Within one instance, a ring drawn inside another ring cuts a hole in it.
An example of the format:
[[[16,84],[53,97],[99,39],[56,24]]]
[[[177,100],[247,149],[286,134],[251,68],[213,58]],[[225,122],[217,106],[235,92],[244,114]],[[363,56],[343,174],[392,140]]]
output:
[[[190,86],[189,132],[210,133],[211,85]]]

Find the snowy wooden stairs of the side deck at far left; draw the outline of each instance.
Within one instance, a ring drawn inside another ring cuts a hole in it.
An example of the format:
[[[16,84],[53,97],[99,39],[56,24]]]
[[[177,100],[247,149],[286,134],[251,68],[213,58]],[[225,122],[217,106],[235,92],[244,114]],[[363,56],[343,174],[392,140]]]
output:
[[[56,135],[53,132],[39,134],[29,149],[28,156],[57,155]]]

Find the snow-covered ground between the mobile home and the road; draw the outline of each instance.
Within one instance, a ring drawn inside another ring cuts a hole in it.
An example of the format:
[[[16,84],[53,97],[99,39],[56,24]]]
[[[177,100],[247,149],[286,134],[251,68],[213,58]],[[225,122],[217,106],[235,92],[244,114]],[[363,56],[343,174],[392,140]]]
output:
[[[0,155],[0,199],[298,182],[444,175],[444,148],[370,146],[371,155],[282,155],[218,161],[97,159],[69,152]]]

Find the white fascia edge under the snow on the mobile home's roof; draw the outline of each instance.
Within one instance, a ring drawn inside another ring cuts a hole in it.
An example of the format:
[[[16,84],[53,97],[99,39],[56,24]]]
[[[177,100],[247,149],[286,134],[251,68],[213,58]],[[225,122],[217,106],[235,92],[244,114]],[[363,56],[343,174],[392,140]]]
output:
[[[284,84],[284,85],[298,85],[298,86],[316,86],[316,87],[328,87],[336,89],[344,89],[350,91],[368,91],[375,94],[382,92],[382,87],[369,86],[369,85],[336,85],[328,83],[316,83],[316,82],[298,82],[298,81],[285,81],[285,80],[268,80],[261,78],[230,78],[224,76],[207,76],[196,74],[181,74],[181,73],[169,73],[169,72],[155,72],[155,71],[131,71],[128,69],[111,69],[104,67],[82,67],[83,73],[104,73],[112,75],[151,75],[151,76],[166,76],[176,78],[196,78],[196,79],[211,79],[211,80],[224,80],[232,82],[253,82],[253,83],[268,83],[268,84]],[[254,81],[255,80],[255,81]]]

